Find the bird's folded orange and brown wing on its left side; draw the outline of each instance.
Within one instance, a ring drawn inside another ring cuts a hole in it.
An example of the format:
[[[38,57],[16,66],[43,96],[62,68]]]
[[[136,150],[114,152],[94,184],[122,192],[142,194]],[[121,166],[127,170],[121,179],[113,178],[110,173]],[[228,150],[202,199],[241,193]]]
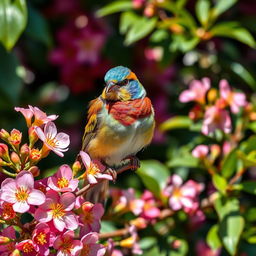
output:
[[[103,101],[100,97],[92,100],[89,104],[87,124],[84,129],[84,135],[82,139],[82,150],[85,151],[88,143],[96,135],[98,127],[98,113],[103,107]]]

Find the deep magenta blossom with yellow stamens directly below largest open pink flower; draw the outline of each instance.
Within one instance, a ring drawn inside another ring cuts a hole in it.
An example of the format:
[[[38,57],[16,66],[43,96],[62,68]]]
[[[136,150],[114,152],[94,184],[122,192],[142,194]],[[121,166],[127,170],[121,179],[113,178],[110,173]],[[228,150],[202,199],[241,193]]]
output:
[[[38,251],[40,255],[49,255],[50,236],[51,230],[46,223],[39,223],[36,225],[32,233],[32,241],[35,245],[36,251]]]

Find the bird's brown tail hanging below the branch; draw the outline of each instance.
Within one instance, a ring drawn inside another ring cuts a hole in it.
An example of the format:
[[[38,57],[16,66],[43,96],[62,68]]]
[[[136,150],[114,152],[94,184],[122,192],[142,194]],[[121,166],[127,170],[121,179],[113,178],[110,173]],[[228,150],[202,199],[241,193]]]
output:
[[[109,181],[103,180],[101,183],[92,187],[85,195],[85,200],[91,203],[104,204],[109,190]]]

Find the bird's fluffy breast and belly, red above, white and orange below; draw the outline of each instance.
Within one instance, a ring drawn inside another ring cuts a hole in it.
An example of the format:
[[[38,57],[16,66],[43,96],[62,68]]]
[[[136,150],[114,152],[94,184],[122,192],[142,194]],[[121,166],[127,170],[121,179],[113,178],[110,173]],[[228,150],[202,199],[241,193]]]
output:
[[[149,98],[104,104],[98,112],[98,131],[88,145],[93,158],[118,164],[148,145],[154,133],[154,111]]]

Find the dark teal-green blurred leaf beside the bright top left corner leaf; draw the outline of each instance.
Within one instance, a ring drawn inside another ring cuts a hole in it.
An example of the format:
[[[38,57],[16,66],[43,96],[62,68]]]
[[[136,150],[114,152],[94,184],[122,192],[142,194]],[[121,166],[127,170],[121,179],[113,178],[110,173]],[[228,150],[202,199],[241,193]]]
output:
[[[44,17],[32,7],[29,7],[28,25],[25,33],[29,37],[42,42],[46,46],[50,46],[52,43],[52,38],[46,19],[44,19]]]

